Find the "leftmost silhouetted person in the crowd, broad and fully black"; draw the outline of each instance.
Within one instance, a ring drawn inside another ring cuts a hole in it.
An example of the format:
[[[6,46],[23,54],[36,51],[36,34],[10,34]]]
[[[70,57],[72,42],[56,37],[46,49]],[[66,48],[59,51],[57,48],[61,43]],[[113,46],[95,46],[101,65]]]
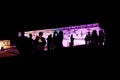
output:
[[[19,54],[20,55],[27,55],[27,54],[29,54],[28,38],[26,36],[24,36],[24,31],[22,31],[21,32],[21,36],[18,37],[16,47],[19,50]]]

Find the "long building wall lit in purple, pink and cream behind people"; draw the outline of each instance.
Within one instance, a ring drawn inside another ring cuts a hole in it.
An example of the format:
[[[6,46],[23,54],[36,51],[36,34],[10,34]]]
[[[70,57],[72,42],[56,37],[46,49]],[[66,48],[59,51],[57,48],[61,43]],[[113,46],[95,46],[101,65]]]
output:
[[[49,34],[53,35],[54,31],[63,31],[64,39],[63,39],[63,46],[69,47],[70,46],[70,36],[73,35],[74,37],[74,46],[77,45],[84,45],[85,44],[85,36],[88,32],[92,33],[93,30],[99,33],[101,30],[99,23],[94,24],[84,24],[78,26],[68,26],[68,27],[61,27],[61,28],[54,28],[54,29],[44,29],[44,30],[34,30],[34,31],[26,31],[25,36],[29,36],[31,33],[33,35],[33,39],[36,38],[39,32],[43,32],[43,37],[47,39]],[[19,33],[20,35],[20,33]]]

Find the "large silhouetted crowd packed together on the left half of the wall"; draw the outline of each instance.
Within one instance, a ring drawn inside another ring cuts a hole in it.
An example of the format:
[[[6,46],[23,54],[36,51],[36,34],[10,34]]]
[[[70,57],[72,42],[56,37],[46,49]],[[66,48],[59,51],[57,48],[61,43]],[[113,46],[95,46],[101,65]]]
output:
[[[52,34],[48,35],[47,40],[43,37],[43,32],[39,32],[39,35],[36,36],[35,40],[32,39],[32,34],[29,34],[29,37],[24,36],[24,31],[21,32],[21,36],[18,37],[16,42],[16,48],[19,51],[20,55],[28,55],[33,53],[42,53],[45,50],[47,45],[47,50],[58,50],[62,49],[63,41],[63,32],[55,31]]]

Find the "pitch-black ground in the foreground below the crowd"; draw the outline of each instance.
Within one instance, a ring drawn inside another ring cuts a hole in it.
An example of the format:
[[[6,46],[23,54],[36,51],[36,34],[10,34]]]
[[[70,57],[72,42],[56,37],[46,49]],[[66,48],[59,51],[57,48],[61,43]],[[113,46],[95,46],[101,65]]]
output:
[[[3,78],[109,80],[119,75],[119,57],[111,48],[81,46],[0,59]],[[116,78],[118,79],[118,78]]]

